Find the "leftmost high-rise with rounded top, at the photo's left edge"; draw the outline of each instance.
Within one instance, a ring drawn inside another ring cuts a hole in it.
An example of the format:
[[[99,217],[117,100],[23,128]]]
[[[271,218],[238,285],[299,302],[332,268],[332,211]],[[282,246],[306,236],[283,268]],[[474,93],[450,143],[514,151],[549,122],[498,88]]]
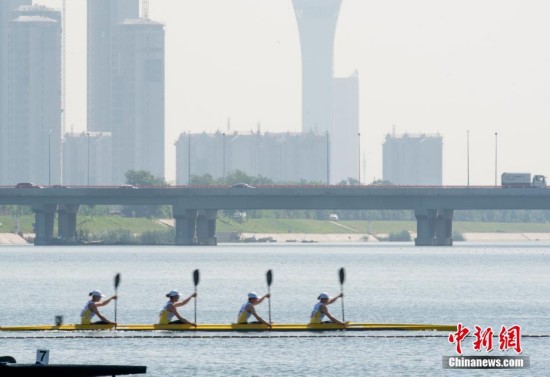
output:
[[[3,183],[61,182],[61,14],[22,6],[9,22]]]

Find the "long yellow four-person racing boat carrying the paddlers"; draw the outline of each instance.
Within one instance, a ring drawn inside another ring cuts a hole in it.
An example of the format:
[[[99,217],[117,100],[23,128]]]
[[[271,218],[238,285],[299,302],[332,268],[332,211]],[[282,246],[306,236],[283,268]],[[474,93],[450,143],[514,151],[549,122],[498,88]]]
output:
[[[0,331],[79,331],[79,330],[119,330],[119,331],[270,331],[264,324],[187,324],[158,325],[158,324],[130,324],[130,325],[76,325],[60,326],[33,325],[33,326],[0,326]],[[342,325],[336,323],[320,324],[273,324],[271,331],[338,331]],[[348,322],[346,331],[376,331],[376,330],[407,330],[407,331],[456,331],[456,325],[445,324],[407,324],[407,323],[357,323]]]

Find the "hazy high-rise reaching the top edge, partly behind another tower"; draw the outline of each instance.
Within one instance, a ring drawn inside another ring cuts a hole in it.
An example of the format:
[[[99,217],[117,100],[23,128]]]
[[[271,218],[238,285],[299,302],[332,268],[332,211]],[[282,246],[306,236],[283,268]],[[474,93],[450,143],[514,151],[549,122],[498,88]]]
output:
[[[88,125],[90,132],[112,129],[113,37],[125,19],[139,17],[139,0],[88,0]]]

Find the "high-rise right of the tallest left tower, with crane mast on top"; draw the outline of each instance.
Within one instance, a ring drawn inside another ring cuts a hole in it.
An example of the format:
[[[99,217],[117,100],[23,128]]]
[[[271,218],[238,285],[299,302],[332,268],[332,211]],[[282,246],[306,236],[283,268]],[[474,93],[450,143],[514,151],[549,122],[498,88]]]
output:
[[[113,46],[113,183],[128,170],[164,178],[164,25],[124,20]]]

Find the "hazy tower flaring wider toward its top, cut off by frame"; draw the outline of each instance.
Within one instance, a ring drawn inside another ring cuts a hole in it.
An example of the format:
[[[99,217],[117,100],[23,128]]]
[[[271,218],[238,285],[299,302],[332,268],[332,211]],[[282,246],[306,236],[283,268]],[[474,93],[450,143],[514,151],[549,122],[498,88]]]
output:
[[[333,134],[333,50],[342,0],[292,0],[302,51],[302,131]]]

